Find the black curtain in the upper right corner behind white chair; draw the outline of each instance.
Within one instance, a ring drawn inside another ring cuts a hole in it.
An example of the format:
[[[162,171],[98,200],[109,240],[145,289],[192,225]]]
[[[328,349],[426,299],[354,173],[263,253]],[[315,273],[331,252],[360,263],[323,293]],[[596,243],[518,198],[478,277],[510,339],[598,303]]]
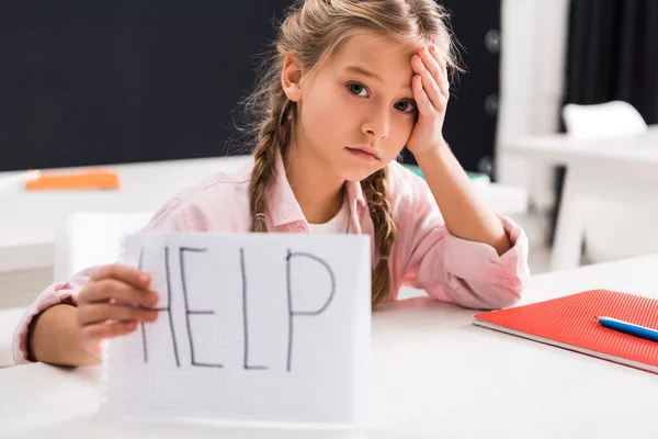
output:
[[[571,0],[566,78],[565,103],[622,100],[658,123],[658,1]]]

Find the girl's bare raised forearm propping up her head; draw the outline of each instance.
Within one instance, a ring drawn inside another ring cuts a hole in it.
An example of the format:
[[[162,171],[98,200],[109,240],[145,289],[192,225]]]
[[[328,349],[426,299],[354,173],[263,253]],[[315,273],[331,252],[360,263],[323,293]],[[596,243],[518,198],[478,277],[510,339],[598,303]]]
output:
[[[479,196],[447,144],[415,155],[451,234],[504,254],[512,245],[502,223]]]

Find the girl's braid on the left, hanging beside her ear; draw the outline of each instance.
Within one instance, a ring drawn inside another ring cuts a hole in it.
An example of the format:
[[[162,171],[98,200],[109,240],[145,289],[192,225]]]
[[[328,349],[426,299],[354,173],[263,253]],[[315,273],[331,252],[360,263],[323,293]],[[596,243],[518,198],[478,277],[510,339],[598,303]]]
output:
[[[260,140],[253,149],[253,170],[251,171],[251,187],[249,188],[249,203],[251,206],[251,232],[266,233],[265,199],[266,191],[274,175],[274,160],[276,149],[283,153],[290,137],[292,114],[294,105],[287,100],[280,83],[272,90],[272,111],[264,119],[260,130]]]

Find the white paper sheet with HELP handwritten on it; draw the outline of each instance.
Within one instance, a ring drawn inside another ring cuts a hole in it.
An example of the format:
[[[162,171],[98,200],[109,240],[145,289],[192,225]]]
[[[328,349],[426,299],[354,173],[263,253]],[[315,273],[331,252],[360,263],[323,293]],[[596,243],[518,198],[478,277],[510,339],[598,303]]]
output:
[[[134,234],[159,318],[109,340],[101,409],[228,421],[362,424],[370,238]]]

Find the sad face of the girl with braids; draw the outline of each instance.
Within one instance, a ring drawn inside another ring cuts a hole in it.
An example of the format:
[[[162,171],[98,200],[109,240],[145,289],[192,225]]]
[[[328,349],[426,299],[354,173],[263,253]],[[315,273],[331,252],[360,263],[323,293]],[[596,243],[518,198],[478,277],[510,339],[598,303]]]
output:
[[[415,47],[364,32],[311,75],[302,74],[293,147],[305,148],[305,156],[349,181],[363,180],[395,159],[418,114],[413,54]]]

